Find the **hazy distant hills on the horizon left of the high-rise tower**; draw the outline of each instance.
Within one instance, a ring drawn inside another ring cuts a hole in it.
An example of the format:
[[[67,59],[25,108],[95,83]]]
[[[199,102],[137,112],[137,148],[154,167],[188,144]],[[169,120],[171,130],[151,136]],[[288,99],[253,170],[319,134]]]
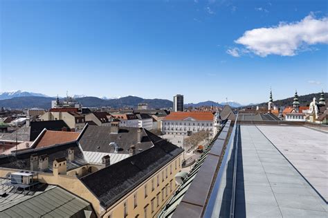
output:
[[[0,100],[0,107],[9,107],[12,109],[24,109],[24,108],[42,108],[50,109],[51,100],[55,98],[50,97],[36,97],[36,96],[26,96],[10,98],[6,100]],[[127,96],[123,98],[104,100],[96,97],[83,97],[76,98],[83,107],[138,107],[138,103],[147,103],[149,108],[159,109],[159,108],[169,108],[172,107],[172,101],[165,99],[143,99],[135,96]]]

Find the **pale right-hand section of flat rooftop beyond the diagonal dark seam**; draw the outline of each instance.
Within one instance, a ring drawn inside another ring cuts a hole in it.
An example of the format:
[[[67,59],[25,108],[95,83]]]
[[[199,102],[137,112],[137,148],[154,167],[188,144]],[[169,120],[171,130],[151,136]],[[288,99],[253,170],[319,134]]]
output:
[[[328,201],[328,134],[307,127],[257,128]]]

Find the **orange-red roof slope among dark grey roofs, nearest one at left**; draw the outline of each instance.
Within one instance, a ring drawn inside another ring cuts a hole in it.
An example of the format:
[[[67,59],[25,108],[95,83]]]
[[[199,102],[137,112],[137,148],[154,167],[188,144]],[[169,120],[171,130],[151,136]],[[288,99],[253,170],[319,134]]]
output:
[[[50,145],[69,143],[76,140],[80,133],[72,131],[51,131],[47,130],[40,138],[39,142],[36,142],[33,147],[48,147]]]

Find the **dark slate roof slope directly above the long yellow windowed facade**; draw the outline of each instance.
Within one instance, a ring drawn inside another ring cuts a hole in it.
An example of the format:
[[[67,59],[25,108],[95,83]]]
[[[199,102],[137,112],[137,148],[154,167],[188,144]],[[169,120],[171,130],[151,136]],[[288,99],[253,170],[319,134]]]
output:
[[[104,208],[111,206],[183,152],[180,147],[145,131],[154,147],[80,178]]]

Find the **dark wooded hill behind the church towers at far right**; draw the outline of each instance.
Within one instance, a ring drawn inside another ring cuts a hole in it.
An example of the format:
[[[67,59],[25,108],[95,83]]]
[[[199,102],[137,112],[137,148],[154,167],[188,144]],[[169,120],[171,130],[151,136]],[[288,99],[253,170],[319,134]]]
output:
[[[313,97],[316,97],[317,101],[319,101],[320,98],[320,93],[311,93],[309,95],[305,95],[305,96],[298,96],[298,101],[300,102],[300,106],[309,106],[311,101],[313,100]],[[325,99],[327,102],[327,98],[328,98],[328,93],[325,93]],[[277,106],[293,106],[293,99],[294,96],[291,98],[285,98],[282,100],[275,100],[273,101],[273,103]],[[267,107],[268,106],[268,102],[263,102],[261,104],[255,105],[255,106],[259,106],[259,107]]]

